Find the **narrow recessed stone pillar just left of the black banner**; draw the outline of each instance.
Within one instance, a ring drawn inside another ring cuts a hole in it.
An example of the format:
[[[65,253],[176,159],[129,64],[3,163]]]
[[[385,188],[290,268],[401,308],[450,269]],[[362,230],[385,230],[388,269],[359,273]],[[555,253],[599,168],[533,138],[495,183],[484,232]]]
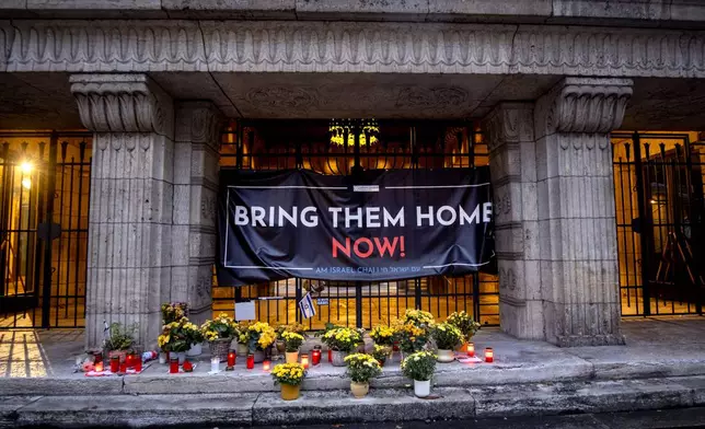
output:
[[[176,103],[170,299],[188,302],[196,323],[211,311],[221,123],[211,102]]]

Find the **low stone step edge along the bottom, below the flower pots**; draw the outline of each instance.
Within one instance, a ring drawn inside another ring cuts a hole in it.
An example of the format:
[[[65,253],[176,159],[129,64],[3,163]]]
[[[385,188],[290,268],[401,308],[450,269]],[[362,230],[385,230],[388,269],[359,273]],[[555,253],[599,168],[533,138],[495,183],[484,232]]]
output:
[[[284,402],[277,392],[247,394],[82,395],[0,397],[0,427],[296,425],[469,419],[498,416],[647,410],[705,405],[705,376],[592,382],[435,386],[420,399],[412,389],[303,391]]]

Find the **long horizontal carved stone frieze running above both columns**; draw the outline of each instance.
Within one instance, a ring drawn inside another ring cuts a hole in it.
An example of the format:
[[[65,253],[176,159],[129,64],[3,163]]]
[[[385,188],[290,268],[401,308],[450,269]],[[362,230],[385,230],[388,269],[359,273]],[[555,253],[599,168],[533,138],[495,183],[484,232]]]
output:
[[[586,26],[14,21],[9,71],[336,71],[705,78],[705,33]],[[203,28],[203,30],[201,30]]]

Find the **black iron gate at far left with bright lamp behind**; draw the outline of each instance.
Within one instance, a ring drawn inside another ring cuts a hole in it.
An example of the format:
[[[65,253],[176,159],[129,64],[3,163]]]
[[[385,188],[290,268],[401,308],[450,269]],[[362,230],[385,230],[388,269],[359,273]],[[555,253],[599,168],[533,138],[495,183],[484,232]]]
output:
[[[0,327],[82,327],[91,135],[0,132]]]

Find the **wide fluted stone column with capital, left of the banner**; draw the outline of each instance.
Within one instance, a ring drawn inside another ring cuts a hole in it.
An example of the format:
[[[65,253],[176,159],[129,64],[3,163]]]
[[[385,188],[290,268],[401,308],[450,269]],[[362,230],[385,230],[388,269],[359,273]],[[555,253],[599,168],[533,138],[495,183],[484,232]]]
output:
[[[139,324],[153,346],[172,281],[174,113],[146,74],[74,74],[71,92],[94,132],[89,213],[85,337],[103,321]]]

